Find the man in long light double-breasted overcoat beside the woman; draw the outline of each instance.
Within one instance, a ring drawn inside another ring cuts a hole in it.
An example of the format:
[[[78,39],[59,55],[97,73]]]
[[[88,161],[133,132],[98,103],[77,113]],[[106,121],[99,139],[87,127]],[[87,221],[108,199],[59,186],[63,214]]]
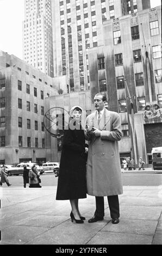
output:
[[[118,195],[123,193],[119,146],[121,120],[118,113],[104,107],[106,96],[94,97],[96,111],[86,118],[85,138],[89,141],[87,161],[87,193],[96,197],[96,211],[89,223],[104,217],[104,196],[108,197],[112,223],[119,223]]]

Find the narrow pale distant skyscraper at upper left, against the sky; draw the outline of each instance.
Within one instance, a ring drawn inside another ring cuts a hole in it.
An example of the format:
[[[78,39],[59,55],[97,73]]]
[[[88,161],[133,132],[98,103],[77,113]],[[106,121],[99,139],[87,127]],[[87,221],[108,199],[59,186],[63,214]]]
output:
[[[51,0],[25,0],[23,60],[53,77]]]

